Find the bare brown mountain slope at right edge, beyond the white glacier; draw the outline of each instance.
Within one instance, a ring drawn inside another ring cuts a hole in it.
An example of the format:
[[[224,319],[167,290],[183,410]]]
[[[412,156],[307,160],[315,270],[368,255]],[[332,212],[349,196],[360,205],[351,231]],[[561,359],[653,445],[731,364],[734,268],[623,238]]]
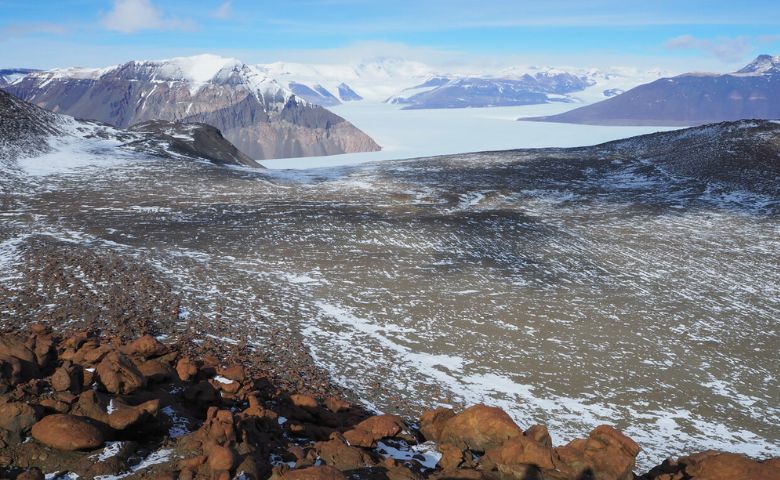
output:
[[[559,115],[525,120],[593,125],[701,125],[780,118],[780,56],[730,74],[688,73]]]

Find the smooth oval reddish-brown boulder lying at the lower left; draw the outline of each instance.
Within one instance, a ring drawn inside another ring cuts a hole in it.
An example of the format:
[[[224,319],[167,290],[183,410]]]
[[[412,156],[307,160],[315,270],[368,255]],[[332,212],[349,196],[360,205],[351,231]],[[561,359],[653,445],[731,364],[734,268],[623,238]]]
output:
[[[83,417],[54,414],[32,427],[35,440],[57,450],[91,450],[103,445],[103,434]]]

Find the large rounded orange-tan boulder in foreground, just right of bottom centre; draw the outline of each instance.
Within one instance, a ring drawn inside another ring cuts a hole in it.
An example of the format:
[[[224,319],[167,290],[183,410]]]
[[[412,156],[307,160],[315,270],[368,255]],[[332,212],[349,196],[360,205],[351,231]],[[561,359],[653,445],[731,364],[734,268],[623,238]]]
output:
[[[485,452],[522,435],[520,427],[500,408],[474,405],[447,420],[439,441]]]

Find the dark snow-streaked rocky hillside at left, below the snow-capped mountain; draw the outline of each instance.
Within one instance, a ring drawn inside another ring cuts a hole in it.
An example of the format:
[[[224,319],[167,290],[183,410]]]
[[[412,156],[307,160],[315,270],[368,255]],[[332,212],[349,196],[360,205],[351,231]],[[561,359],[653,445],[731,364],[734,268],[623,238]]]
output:
[[[57,139],[57,142],[52,142]],[[220,165],[259,167],[216,128],[198,123],[145,122],[128,130],[55,114],[0,90],[0,162],[67,148],[69,142],[94,144],[164,158],[204,159]],[[56,145],[55,145],[56,143]],[[103,155],[106,152],[102,152]]]

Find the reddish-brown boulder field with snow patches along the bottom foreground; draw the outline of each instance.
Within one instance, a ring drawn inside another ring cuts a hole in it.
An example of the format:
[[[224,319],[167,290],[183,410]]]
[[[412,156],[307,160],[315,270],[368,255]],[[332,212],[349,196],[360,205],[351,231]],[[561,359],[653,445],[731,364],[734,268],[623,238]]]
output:
[[[165,339],[164,339],[165,340]],[[437,408],[418,423],[279,387],[240,352],[97,331],[0,337],[0,477],[780,479],[780,458],[714,451],[642,476],[640,446],[608,425],[553,446],[502,410]]]

